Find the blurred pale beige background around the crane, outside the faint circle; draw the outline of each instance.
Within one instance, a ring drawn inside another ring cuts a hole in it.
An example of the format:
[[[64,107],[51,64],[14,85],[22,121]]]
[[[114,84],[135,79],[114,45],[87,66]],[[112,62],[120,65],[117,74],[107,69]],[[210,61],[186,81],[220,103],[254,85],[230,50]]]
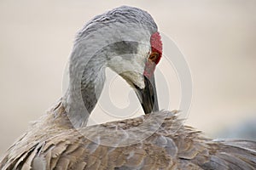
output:
[[[186,124],[213,138],[256,138],[255,0],[2,0],[0,156],[61,97],[75,32],[123,4],[152,14],[186,57],[193,78]]]

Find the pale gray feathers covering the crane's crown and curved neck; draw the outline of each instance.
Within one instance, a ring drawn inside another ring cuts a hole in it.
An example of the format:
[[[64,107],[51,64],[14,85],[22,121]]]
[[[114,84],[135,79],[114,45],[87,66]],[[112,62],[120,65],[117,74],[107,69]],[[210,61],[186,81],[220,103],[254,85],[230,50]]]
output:
[[[150,14],[122,6],[97,15],[78,32],[69,60],[69,86],[63,97],[74,127],[86,125],[102,92],[108,60],[137,54],[138,44],[148,45],[155,31],[157,26]]]

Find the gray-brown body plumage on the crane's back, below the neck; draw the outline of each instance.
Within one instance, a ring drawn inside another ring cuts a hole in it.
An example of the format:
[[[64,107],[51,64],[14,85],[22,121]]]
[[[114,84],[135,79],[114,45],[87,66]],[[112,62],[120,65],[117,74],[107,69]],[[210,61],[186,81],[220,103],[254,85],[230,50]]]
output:
[[[119,129],[138,127],[140,130],[129,134],[131,138],[133,133],[140,136],[163,117],[165,121],[153,135],[119,147],[127,135],[125,131],[115,133]],[[1,169],[255,169],[255,142],[214,142],[181,123],[176,111],[160,111],[84,127],[91,139],[99,137],[99,143],[105,140],[105,144],[117,144],[108,147],[84,138],[72,128],[60,104],[9,148]]]

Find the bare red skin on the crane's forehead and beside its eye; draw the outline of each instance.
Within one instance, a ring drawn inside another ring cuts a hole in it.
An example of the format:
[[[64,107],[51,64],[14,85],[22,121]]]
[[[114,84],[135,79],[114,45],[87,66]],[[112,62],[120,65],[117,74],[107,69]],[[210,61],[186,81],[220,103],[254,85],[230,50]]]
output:
[[[157,65],[162,57],[163,45],[160,37],[160,33],[154,32],[150,37],[151,53],[158,53],[159,57],[153,62],[148,59],[145,65],[144,76],[151,78],[154,75],[155,65]]]

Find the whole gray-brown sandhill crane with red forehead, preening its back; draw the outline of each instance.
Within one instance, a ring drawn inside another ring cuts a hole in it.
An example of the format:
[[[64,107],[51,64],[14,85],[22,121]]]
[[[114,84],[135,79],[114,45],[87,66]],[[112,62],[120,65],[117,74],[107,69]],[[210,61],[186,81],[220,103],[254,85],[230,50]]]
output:
[[[207,139],[176,111],[158,111],[161,46],[154,20],[139,8],[90,20],[74,42],[66,94],[10,146],[1,169],[255,169],[255,142]],[[146,115],[86,127],[105,67],[131,85]]]

